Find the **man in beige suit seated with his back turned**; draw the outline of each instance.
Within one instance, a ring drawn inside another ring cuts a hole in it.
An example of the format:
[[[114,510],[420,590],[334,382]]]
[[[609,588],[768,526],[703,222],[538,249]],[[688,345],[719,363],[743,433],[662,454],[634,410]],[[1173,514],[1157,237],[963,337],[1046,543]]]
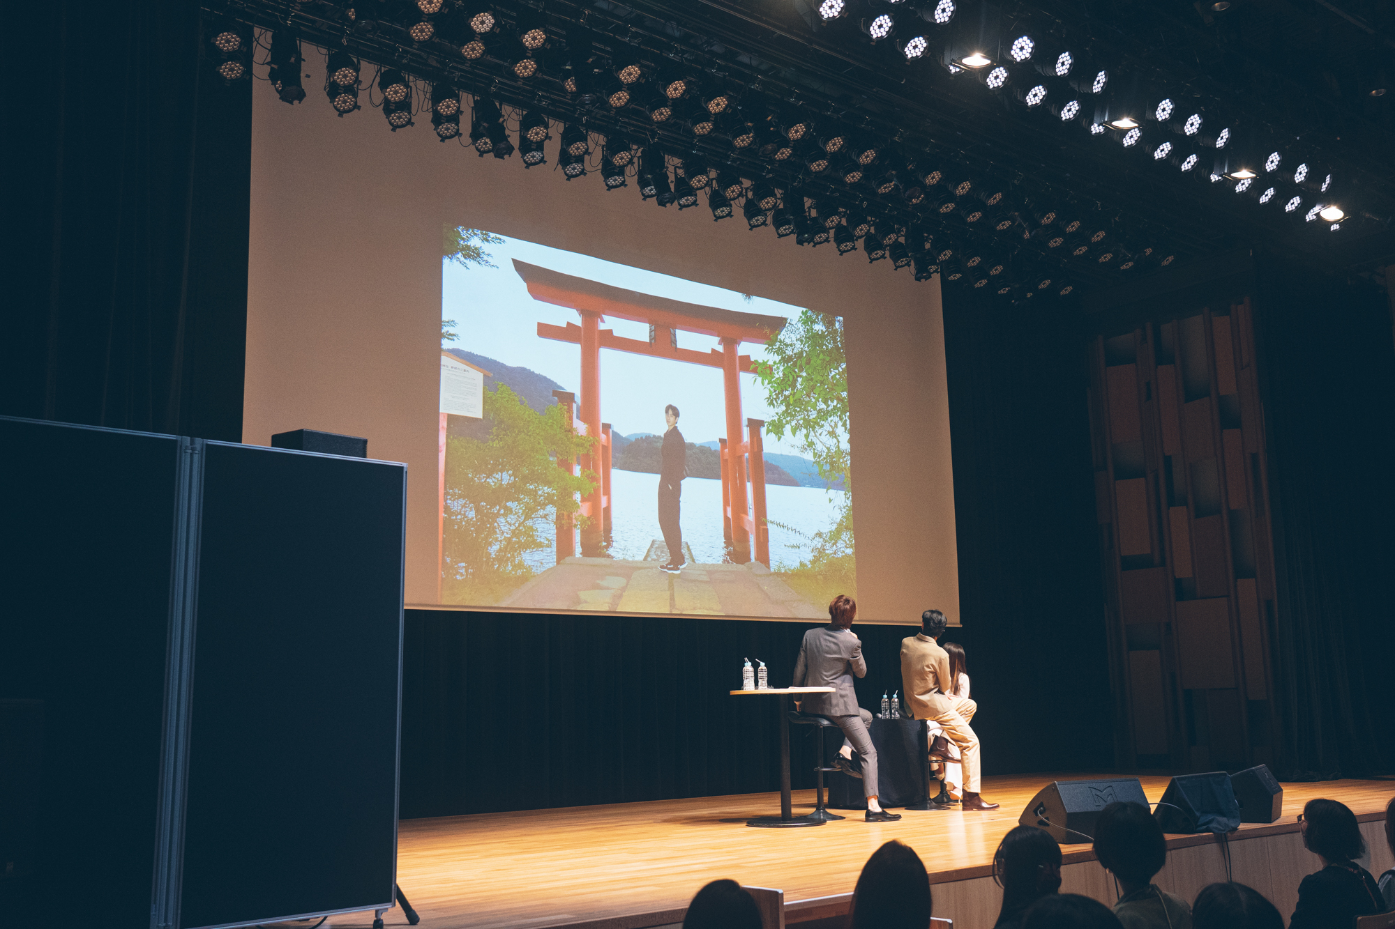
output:
[[[936,639],[944,633],[944,614],[926,610],[921,614],[921,633],[901,640],[901,692],[918,720],[933,720],[960,750],[964,766],[964,801],[961,809],[997,809],[978,795],[978,737],[970,728],[978,704],[954,696],[950,685],[950,657]]]

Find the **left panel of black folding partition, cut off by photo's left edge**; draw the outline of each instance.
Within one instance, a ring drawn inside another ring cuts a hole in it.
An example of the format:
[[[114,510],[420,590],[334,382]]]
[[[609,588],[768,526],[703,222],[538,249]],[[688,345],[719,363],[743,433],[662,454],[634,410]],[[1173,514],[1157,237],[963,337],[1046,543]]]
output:
[[[0,417],[0,922],[151,925],[179,448]]]

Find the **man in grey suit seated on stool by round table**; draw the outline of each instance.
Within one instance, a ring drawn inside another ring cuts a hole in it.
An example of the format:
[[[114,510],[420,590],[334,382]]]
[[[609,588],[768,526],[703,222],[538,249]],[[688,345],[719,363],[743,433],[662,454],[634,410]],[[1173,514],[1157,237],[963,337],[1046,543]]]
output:
[[[799,710],[822,716],[838,725],[845,737],[838,752],[838,767],[855,774],[851,769],[852,749],[862,756],[862,792],[868,798],[866,822],[890,823],[901,819],[900,813],[887,813],[876,801],[876,746],[868,734],[872,714],[858,706],[858,695],[852,688],[852,675],[866,677],[868,663],[862,657],[862,642],[852,635],[852,618],[858,604],[852,597],[838,594],[829,604],[826,626],[809,629],[799,646],[799,658],[794,665],[794,686],[833,688],[833,693],[805,695]],[[822,763],[823,759],[819,759]]]

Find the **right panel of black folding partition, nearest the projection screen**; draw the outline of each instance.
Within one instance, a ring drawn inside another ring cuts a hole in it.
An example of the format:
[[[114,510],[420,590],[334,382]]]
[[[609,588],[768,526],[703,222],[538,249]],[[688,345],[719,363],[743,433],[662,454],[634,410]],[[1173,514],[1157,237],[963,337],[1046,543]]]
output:
[[[405,491],[205,444],[183,929],[392,904]]]

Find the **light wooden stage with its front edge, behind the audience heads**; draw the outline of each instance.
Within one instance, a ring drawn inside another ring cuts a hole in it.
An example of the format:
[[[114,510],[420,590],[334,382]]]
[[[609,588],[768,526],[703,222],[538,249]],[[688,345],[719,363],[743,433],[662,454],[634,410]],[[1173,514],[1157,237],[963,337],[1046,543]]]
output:
[[[612,806],[485,813],[403,820],[398,882],[421,914],[424,929],[579,926],[639,929],[679,922],[682,908],[706,882],[731,877],[784,891],[785,921],[812,929],[847,911],[847,894],[868,856],[900,838],[921,855],[935,884],[935,912],[957,929],[985,929],[1000,905],[992,855],[1023,808],[1052,780],[1089,774],[1031,774],[985,778],[989,813],[912,812],[897,823],[869,824],[861,812],[812,829],[749,829],[748,816],[778,812],[778,794],[707,796]],[[1119,777],[1099,776],[1099,777]],[[1156,801],[1166,777],[1143,777]],[[1272,826],[1242,826],[1230,836],[1235,879],[1292,912],[1297,879],[1320,868],[1303,849],[1296,816],[1314,796],[1350,806],[1371,845],[1374,873],[1391,868],[1382,822],[1395,781],[1285,784],[1283,816]],[[813,806],[813,791],[795,791],[797,812]],[[1262,840],[1262,841],[1242,841]],[[1169,837],[1169,865],[1159,884],[1186,898],[1225,880],[1214,837]],[[1113,902],[1112,886],[1089,845],[1066,845],[1063,890]],[[325,925],[357,929],[372,914],[332,916]],[[809,922],[817,919],[819,922]],[[405,925],[392,909],[389,926]],[[303,925],[303,923],[294,923]]]

